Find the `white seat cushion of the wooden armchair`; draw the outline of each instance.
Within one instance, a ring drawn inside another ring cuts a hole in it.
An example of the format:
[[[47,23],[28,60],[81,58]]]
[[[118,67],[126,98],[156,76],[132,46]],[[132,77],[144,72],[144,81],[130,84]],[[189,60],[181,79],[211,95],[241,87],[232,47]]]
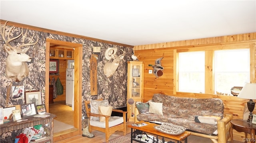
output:
[[[124,118],[123,117],[119,117],[119,116],[111,116],[109,121],[108,121],[108,127],[113,127],[115,125],[119,125],[120,123],[124,122]],[[90,125],[92,126],[96,126],[96,127],[102,127],[102,128],[106,128],[106,123],[98,120],[90,120]]]

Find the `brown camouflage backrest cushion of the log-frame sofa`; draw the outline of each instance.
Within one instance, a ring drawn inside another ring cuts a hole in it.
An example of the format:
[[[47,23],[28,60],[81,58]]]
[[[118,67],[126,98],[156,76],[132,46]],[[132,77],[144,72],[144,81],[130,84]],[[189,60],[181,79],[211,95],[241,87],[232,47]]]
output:
[[[163,103],[163,115],[194,120],[195,116],[218,116],[223,118],[224,105],[218,98],[181,98],[154,94],[153,102]]]

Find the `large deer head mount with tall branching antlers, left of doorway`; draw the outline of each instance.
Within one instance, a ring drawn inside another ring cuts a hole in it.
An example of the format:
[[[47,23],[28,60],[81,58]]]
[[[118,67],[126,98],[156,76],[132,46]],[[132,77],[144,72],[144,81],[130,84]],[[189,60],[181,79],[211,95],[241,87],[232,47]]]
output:
[[[10,38],[10,33],[14,28],[14,26],[12,26],[10,31],[7,34],[7,39],[6,39],[5,30],[6,30],[7,22],[8,21],[5,22],[3,29],[2,29],[2,24],[0,25],[1,36],[5,41],[4,50],[8,53],[8,56],[6,59],[6,76],[18,82],[18,81],[21,81],[24,77],[28,76],[29,69],[28,69],[28,65],[25,62],[32,61],[32,58],[26,54],[26,52],[30,47],[26,47],[26,48],[21,48],[21,47],[35,45],[38,42],[38,38],[36,42],[31,43],[34,39],[35,33],[33,33],[33,36],[31,37],[31,39],[27,43],[25,43],[28,29],[26,30],[26,33],[23,34],[23,28],[21,33],[18,36]],[[13,47],[12,45],[10,45],[10,42],[12,40],[17,39],[21,35],[22,35],[21,45],[19,46],[16,45],[17,47],[16,46]]]

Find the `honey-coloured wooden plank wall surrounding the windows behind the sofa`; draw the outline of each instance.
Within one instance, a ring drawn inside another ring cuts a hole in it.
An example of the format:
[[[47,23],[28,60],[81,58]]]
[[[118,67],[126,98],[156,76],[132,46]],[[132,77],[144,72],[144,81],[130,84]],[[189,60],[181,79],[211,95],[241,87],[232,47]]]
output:
[[[224,114],[232,114],[233,119],[242,119],[244,106],[248,100],[237,98],[236,96],[222,96],[216,94],[199,94],[174,91],[174,74],[176,70],[174,69],[174,61],[176,61],[174,50],[190,50],[192,48],[206,49],[209,47],[212,47],[214,49],[215,46],[222,45],[237,48],[238,45],[244,45],[244,43],[246,43],[246,45],[249,44],[250,46],[254,47],[254,53],[251,53],[251,56],[253,57],[253,59],[251,59],[251,64],[256,65],[256,33],[134,46],[134,54],[137,55],[140,61],[145,61],[144,102],[150,100],[154,93],[163,93],[167,95],[192,98],[220,98],[224,102]],[[163,76],[156,78],[154,74],[148,73],[148,70],[153,69],[148,65],[154,65],[155,60],[160,57],[164,57],[162,59],[164,74]],[[256,66],[254,67],[255,69],[252,68],[253,70],[251,70],[251,72],[253,72],[251,73],[251,75],[254,76],[253,78],[251,78],[253,82],[256,81]],[[256,114],[256,109],[254,110],[254,113]],[[244,133],[238,133],[236,131],[233,131],[233,137],[234,140],[242,141],[242,139],[244,138]]]

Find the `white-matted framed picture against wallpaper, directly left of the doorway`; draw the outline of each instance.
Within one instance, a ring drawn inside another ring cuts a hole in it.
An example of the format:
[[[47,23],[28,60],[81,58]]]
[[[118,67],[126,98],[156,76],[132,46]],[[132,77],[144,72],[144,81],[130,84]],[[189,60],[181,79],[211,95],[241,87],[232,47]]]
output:
[[[42,104],[41,91],[29,91],[26,92],[26,104],[35,102],[36,105]]]

